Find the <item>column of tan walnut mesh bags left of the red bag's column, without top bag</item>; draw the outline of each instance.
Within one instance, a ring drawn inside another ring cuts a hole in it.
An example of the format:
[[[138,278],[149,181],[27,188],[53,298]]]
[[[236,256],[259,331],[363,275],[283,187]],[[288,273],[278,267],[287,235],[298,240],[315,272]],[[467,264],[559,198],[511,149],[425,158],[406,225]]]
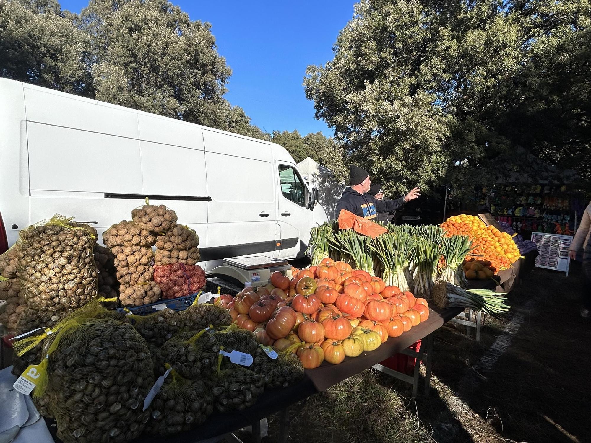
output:
[[[103,243],[111,249],[123,306],[141,306],[160,298],[160,287],[152,281],[154,233],[134,222],[122,220],[103,233]]]

